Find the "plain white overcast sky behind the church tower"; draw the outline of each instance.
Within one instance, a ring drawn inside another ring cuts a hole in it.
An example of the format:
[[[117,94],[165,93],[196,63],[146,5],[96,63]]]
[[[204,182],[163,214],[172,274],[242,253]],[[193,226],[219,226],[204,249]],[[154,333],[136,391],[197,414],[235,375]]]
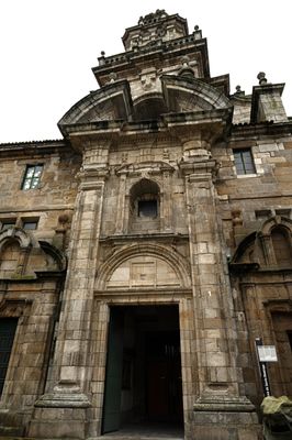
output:
[[[125,28],[165,9],[199,24],[211,75],[231,75],[246,94],[266,72],[285,82],[292,116],[290,0],[0,0],[0,143],[61,139],[58,120],[98,88],[91,67],[123,52]]]

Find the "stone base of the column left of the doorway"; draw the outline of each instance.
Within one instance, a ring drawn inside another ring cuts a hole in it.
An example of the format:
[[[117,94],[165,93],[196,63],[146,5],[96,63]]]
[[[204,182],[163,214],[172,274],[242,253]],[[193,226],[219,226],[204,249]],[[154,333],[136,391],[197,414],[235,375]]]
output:
[[[85,439],[91,403],[77,386],[56,386],[34,405],[29,437]]]

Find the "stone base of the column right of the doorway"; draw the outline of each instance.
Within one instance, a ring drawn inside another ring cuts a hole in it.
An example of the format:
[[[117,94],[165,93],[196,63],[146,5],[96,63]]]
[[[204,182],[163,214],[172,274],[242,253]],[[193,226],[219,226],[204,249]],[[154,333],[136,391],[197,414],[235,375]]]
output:
[[[200,440],[260,440],[262,427],[246,398],[199,398],[193,405],[192,438]]]

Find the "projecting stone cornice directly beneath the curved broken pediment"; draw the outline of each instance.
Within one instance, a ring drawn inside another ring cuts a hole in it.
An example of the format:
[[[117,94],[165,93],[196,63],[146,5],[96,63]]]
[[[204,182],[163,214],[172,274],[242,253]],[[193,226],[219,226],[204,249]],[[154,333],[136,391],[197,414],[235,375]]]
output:
[[[92,121],[68,124],[66,130],[72,146],[78,151],[83,151],[89,142],[98,146],[99,142],[108,141],[113,145],[133,139],[135,142],[143,139],[149,141],[151,136],[156,140],[175,138],[187,142],[198,133],[212,144],[228,135],[232,113],[232,108],[167,113],[154,121]]]

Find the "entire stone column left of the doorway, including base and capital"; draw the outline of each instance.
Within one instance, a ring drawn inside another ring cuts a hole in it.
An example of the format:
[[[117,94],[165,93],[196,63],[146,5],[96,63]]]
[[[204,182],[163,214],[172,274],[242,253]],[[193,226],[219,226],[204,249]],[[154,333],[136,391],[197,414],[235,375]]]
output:
[[[54,359],[55,386],[35,404],[30,436],[85,438],[90,418],[88,398],[93,286],[101,230],[104,182],[100,163],[85,163],[72,220],[69,266]],[[98,155],[97,155],[98,156]],[[100,156],[100,155],[99,155]],[[60,410],[61,408],[61,410]]]

